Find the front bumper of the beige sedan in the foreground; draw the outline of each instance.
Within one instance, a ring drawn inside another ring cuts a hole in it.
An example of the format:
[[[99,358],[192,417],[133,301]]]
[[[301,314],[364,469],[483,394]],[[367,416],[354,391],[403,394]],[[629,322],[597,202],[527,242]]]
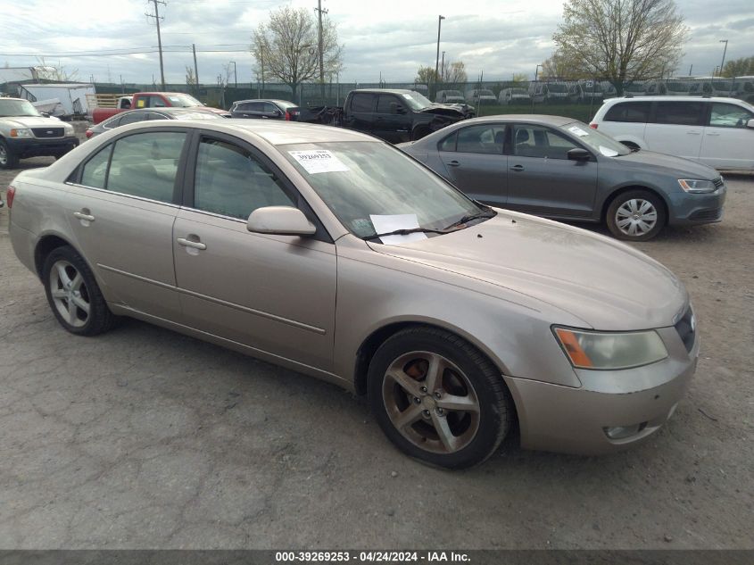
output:
[[[699,338],[687,351],[675,328],[657,330],[668,357],[627,370],[576,370],[581,388],[504,376],[518,411],[521,446],[612,453],[646,441],[673,415],[696,370]],[[634,428],[620,439],[610,428]]]

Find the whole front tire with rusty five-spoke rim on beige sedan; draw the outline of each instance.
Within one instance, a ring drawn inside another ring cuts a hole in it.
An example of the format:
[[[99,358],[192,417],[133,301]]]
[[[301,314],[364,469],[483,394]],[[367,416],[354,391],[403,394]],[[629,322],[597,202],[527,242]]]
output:
[[[513,403],[476,347],[437,328],[408,328],[369,364],[369,404],[402,452],[448,469],[490,457],[508,434]]]

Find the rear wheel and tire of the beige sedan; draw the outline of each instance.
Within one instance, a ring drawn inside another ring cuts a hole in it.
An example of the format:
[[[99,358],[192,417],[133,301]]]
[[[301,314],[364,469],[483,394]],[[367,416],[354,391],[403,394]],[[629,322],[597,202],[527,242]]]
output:
[[[42,267],[47,302],[63,328],[78,336],[96,336],[117,320],[87,262],[72,247],[54,249]]]

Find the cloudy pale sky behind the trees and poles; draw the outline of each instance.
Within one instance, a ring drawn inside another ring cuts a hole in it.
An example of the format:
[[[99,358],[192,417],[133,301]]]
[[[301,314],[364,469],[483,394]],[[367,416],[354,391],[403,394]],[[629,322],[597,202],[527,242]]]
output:
[[[754,55],[752,0],[676,0],[691,28],[677,74],[708,75],[725,60]],[[253,78],[248,53],[252,29],[267,20],[279,0],[167,0],[159,5],[165,79],[184,82],[198,50],[199,79],[216,83],[224,64],[236,62],[238,82]],[[316,0],[287,4],[308,9]],[[46,62],[78,70],[97,81],[159,82],[156,30],[145,16],[146,0],[0,0],[0,67]],[[552,33],[562,16],[561,0],[323,0],[344,44],[342,81],[410,81],[419,65],[435,64],[437,17],[443,14],[441,51],[466,63],[469,79],[534,77],[537,63],[553,50]],[[129,54],[122,54],[122,53]],[[120,53],[120,54],[113,54]],[[233,79],[231,78],[231,81]]]

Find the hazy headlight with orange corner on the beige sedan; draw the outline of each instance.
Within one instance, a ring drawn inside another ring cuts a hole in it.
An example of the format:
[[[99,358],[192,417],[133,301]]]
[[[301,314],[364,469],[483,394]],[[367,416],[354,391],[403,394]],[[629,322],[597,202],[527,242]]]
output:
[[[626,333],[552,328],[571,364],[578,369],[629,369],[667,357],[654,330]]]

